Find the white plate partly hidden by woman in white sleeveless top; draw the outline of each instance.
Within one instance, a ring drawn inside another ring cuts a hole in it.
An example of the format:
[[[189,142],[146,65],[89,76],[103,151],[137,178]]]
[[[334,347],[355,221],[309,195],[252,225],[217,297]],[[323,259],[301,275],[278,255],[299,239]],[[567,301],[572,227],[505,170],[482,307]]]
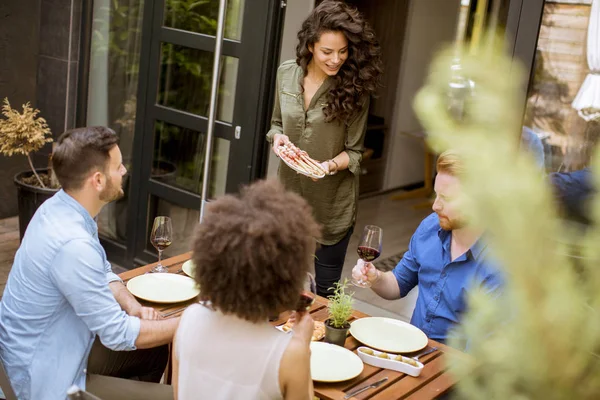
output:
[[[310,351],[310,372],[313,381],[347,381],[360,375],[364,368],[360,357],[335,344],[311,342]]]

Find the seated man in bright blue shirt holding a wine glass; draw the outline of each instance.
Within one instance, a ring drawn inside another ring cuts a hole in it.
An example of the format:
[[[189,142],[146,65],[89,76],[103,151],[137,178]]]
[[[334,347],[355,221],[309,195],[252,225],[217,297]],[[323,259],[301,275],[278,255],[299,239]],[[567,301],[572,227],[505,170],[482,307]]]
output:
[[[436,169],[434,212],[421,222],[402,260],[385,273],[358,260],[352,276],[369,281],[371,289],[388,300],[404,297],[418,285],[411,324],[444,343],[466,311],[468,293],[479,287],[496,295],[502,279],[489,260],[482,231],[469,226],[459,211],[460,158],[452,151],[444,152]],[[467,338],[462,339],[466,344]]]

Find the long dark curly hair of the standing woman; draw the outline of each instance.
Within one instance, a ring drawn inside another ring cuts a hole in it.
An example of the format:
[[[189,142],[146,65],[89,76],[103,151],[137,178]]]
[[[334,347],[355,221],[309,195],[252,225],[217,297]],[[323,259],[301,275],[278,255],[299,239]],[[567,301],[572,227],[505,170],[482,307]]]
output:
[[[298,32],[296,63],[308,73],[312,59],[309,47],[325,32],[342,32],[348,40],[348,59],[340,68],[323,109],[325,121],[348,125],[363,106],[364,98],[380,86],[381,49],[375,32],[356,8],[341,1],[326,0],[316,7]]]

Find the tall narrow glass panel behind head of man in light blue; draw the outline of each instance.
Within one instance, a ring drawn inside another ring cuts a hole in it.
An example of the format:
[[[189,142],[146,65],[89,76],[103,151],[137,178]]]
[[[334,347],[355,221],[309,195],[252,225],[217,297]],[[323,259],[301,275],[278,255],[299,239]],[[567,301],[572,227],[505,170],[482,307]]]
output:
[[[143,5],[142,0],[93,2],[86,125],[109,126],[117,132],[128,168],[135,129]],[[108,204],[98,216],[100,234],[118,241],[124,241],[127,234],[127,177],[124,188],[126,197]]]

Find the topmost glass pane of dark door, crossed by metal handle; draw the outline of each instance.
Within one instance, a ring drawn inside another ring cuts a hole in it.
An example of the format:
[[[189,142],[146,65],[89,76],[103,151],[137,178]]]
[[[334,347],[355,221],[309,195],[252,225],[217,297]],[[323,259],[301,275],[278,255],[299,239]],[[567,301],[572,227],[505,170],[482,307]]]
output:
[[[240,40],[244,0],[228,0],[225,15],[225,37]],[[219,2],[216,0],[167,0],[164,25],[205,35],[215,36]]]

